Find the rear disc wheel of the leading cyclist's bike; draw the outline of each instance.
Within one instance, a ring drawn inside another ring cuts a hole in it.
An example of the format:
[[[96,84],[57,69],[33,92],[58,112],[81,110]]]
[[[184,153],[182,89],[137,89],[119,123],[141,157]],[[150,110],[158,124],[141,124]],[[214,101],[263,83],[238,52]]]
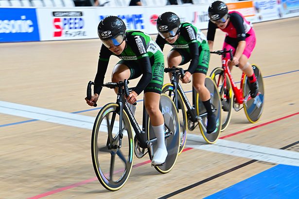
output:
[[[179,120],[176,112],[176,106],[172,99],[166,95],[165,93],[161,94],[160,105],[159,108],[164,117],[165,123],[165,133],[171,131],[171,134],[168,138],[165,139],[165,145],[168,152],[165,163],[160,166],[154,166],[155,169],[160,173],[168,173],[176,164],[176,159],[178,156],[179,150]],[[168,127],[168,128],[167,128]],[[156,138],[155,133],[152,129],[152,125],[150,124],[150,118],[148,117],[147,121],[147,136],[149,140],[153,140]],[[154,151],[156,150],[156,146],[153,146]]]

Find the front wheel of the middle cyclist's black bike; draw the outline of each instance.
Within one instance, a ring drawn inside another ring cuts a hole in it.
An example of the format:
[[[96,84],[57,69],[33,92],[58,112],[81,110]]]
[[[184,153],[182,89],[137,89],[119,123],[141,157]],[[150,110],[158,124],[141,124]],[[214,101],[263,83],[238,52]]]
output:
[[[174,102],[175,102],[175,92],[174,92],[175,86],[172,83],[164,84],[162,87],[162,93],[165,93],[168,95]],[[179,126],[180,126],[180,142],[179,142],[179,150],[178,154],[181,154],[183,149],[185,148],[185,144],[187,141],[187,112],[184,105],[184,100],[181,96],[181,94],[177,91],[177,110],[178,110],[178,117],[179,117]]]

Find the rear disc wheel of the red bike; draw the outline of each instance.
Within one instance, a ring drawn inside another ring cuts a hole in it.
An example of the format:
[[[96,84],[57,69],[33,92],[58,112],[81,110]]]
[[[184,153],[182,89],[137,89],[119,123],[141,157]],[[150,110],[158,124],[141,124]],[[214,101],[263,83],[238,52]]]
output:
[[[252,65],[252,68],[259,83],[259,93],[254,99],[249,99],[243,103],[243,107],[248,121],[251,123],[256,123],[261,118],[264,110],[264,81],[260,68],[256,65]],[[244,76],[242,85],[243,98],[246,99],[250,92],[246,75]]]

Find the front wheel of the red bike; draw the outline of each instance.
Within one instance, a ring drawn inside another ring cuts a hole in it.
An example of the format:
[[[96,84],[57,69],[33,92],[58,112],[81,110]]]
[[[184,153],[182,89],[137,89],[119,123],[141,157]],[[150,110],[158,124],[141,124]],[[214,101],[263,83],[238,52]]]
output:
[[[226,74],[226,87],[223,86],[223,84],[224,84],[224,69],[223,68],[220,68],[220,67],[214,68],[211,72],[211,79],[216,83],[216,85],[218,87],[220,100],[222,103],[221,132],[223,132],[229,126],[229,122],[231,119],[232,104],[233,104],[232,86],[229,81],[228,74]],[[225,107],[224,107],[224,105],[225,105]]]

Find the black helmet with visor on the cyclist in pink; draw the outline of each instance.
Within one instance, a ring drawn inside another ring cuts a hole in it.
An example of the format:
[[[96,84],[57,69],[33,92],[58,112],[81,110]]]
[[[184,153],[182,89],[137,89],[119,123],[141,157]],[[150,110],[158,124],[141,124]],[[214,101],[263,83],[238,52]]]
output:
[[[212,22],[219,21],[224,23],[228,18],[229,9],[224,2],[216,0],[209,6],[208,13]]]

